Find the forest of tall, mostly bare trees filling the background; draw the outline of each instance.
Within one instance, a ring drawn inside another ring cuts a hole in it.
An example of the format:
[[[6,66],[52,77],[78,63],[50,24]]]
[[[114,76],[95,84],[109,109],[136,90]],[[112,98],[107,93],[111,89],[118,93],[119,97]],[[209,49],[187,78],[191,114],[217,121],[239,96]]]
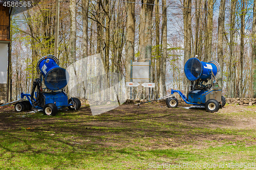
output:
[[[133,61],[152,62],[151,98],[170,89],[187,92],[184,61],[198,55],[216,60],[223,95],[255,97],[255,1],[109,1],[60,2],[60,66],[100,54],[105,72],[130,81]],[[30,92],[37,78],[37,61],[54,54],[55,1],[42,1],[11,22],[12,99]],[[96,71],[97,75],[97,71]],[[110,86],[110,78],[107,77]],[[97,91],[99,82],[91,84]],[[122,87],[121,87],[122,88]],[[129,96],[130,88],[123,88]],[[92,92],[91,92],[92,93]],[[148,98],[145,88],[133,88],[134,98]],[[144,95],[143,95],[144,94]],[[87,98],[87,95],[85,96]]]

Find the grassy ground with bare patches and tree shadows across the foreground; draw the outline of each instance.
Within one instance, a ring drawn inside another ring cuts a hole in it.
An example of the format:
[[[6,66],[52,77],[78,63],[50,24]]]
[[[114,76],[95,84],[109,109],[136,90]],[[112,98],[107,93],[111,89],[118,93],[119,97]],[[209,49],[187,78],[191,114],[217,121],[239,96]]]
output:
[[[123,105],[97,116],[81,108],[54,117],[5,109],[0,168],[228,169],[255,161],[255,128],[238,127],[243,122],[234,119],[245,114],[160,106]]]

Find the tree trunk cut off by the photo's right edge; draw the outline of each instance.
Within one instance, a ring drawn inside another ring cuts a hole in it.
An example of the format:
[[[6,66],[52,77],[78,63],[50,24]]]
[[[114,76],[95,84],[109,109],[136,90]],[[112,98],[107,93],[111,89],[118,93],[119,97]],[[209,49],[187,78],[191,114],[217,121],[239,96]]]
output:
[[[253,2],[251,53],[251,96],[256,98],[256,1]]]

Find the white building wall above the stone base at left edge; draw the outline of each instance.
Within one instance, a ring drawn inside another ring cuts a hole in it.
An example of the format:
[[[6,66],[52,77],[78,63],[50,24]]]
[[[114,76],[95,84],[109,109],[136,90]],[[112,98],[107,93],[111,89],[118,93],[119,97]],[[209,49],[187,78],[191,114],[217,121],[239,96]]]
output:
[[[7,84],[8,44],[0,43],[0,84]]]

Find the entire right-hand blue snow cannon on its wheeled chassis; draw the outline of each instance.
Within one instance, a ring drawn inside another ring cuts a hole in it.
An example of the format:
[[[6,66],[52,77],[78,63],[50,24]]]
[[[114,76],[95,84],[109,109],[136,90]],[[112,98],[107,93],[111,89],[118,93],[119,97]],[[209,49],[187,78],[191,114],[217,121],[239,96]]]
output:
[[[217,83],[220,75],[220,65],[217,61],[203,62],[197,58],[190,58],[184,65],[184,73],[190,81],[188,99],[179,90],[172,89],[171,94],[177,92],[185,103],[205,106],[209,112],[216,112],[225,106],[226,100]],[[178,106],[178,100],[172,96],[166,99],[166,104],[174,108]]]

